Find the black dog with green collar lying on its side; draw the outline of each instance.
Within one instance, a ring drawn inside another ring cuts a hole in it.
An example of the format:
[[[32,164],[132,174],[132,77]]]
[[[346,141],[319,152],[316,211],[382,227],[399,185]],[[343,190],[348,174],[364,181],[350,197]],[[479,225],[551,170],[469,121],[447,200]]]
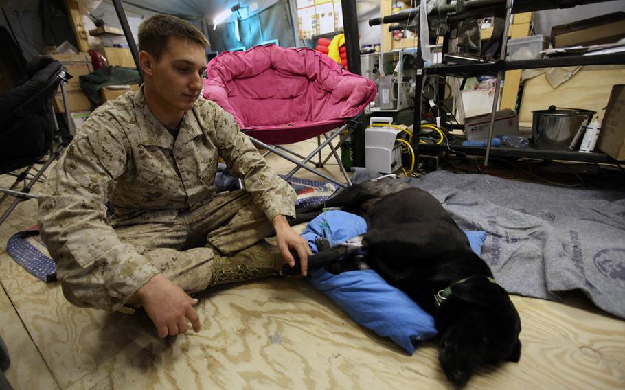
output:
[[[483,363],[519,361],[516,308],[433,196],[394,179],[365,182],[298,211],[296,222],[314,218],[323,206],[363,216],[368,230],[361,249],[330,248],[318,240],[319,253],[308,258],[308,268],[328,266],[337,273],[358,268],[354,264],[362,260],[406,292],[435,317],[440,365],[454,385],[463,386]],[[284,273],[297,269],[286,266]]]

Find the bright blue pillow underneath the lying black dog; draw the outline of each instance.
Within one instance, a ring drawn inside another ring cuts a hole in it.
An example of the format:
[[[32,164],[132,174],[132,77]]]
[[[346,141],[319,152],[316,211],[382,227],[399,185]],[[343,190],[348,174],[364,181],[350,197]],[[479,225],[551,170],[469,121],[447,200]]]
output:
[[[317,216],[302,236],[308,240],[312,252],[317,253],[315,239],[319,236],[334,245],[366,231],[367,223],[363,218],[337,210]],[[466,233],[471,249],[479,255],[486,233]],[[404,292],[387,284],[376,271],[348,271],[334,275],[321,268],[310,274],[310,281],[356,323],[380,336],[389,337],[410,355],[419,341],[436,336],[433,317]]]

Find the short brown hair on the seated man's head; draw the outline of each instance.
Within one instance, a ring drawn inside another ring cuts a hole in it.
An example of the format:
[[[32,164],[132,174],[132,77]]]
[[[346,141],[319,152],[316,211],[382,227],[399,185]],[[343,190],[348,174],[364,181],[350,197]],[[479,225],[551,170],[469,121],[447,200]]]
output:
[[[161,59],[170,36],[187,39],[202,47],[210,44],[194,25],[176,16],[154,15],[139,25],[139,50],[145,50],[157,60]]]

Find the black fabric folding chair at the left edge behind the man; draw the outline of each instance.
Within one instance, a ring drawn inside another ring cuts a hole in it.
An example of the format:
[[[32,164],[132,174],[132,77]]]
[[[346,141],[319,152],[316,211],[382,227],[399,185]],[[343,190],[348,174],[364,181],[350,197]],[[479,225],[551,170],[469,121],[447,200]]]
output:
[[[61,63],[49,56],[34,58],[26,65],[27,78],[17,87],[0,95],[0,174],[15,176],[10,188],[1,188],[14,202],[0,217],[0,225],[23,200],[36,199],[32,187],[43,181],[47,168],[60,157],[71,141],[71,117],[65,84],[71,78]],[[56,121],[52,101],[60,86],[67,129]],[[15,173],[14,171],[25,168]],[[22,186],[19,188],[19,185]]]

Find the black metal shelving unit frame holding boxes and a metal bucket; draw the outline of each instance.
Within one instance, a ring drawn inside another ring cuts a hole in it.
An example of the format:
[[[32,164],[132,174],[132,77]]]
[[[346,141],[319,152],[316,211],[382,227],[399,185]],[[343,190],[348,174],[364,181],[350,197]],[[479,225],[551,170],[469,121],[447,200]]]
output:
[[[490,16],[495,12],[495,8],[505,5],[505,28],[503,37],[508,36],[508,29],[510,27],[511,15],[520,12],[546,10],[551,8],[569,8],[575,5],[583,5],[589,3],[602,3],[607,0],[564,0],[564,1],[534,1],[534,0],[517,0],[518,6],[514,7],[515,1],[513,0],[468,0],[458,1],[455,5],[442,5],[431,12],[429,19],[446,17],[448,23],[458,23],[459,21],[471,19],[475,17]],[[555,3],[555,4],[554,4]],[[435,15],[435,16],[432,16]],[[403,19],[402,19],[403,18]],[[385,18],[378,18],[370,20],[370,25],[378,25],[380,23],[394,23],[398,21],[405,21],[407,18],[418,18],[418,10],[411,10],[404,14],[396,14],[392,16],[386,16]],[[451,30],[451,29],[450,29]],[[419,46],[422,45],[422,37],[419,36]],[[449,32],[444,36],[443,52],[448,50],[450,34]],[[502,40],[500,58],[505,58],[502,54],[506,52],[507,38]],[[501,157],[534,157],[540,159],[558,159],[565,161],[584,161],[584,162],[603,162],[614,163],[615,160],[602,153],[579,153],[579,152],[567,152],[561,150],[539,150],[533,148],[527,149],[514,149],[500,147],[491,149],[493,124],[495,122],[495,112],[499,105],[499,90],[501,88],[501,78],[503,72],[513,69],[535,69],[546,67],[567,67],[573,65],[613,65],[613,64],[625,64],[625,53],[617,54],[602,54],[595,56],[562,56],[559,58],[545,58],[539,60],[497,60],[494,62],[475,62],[467,64],[440,64],[425,66],[422,51],[418,49],[415,54],[416,62],[416,91],[415,96],[422,95],[422,86],[424,79],[429,75],[439,76],[452,76],[452,77],[470,77],[484,74],[497,74],[497,84],[495,87],[495,99],[492,106],[490,115],[490,126],[488,131],[488,142],[486,147],[463,147],[453,146],[454,150],[459,152],[465,152],[470,154],[484,154],[484,165],[488,165],[488,159],[490,154]],[[416,99],[415,102],[418,100]],[[414,109],[414,123],[419,124],[421,122],[421,110],[420,104],[415,104]],[[419,144],[420,126],[415,126],[416,137],[413,137],[413,149],[419,156],[420,150],[446,150],[446,146],[435,146],[427,144]]]

